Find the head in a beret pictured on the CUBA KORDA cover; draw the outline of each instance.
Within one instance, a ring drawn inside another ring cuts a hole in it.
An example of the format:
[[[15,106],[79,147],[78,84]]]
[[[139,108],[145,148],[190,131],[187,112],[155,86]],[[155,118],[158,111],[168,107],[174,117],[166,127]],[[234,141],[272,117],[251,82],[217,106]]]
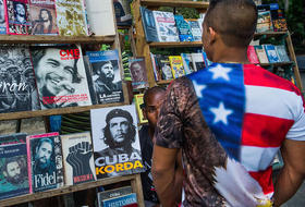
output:
[[[106,117],[105,144],[110,148],[131,146],[135,142],[135,126],[129,111],[113,109]]]

